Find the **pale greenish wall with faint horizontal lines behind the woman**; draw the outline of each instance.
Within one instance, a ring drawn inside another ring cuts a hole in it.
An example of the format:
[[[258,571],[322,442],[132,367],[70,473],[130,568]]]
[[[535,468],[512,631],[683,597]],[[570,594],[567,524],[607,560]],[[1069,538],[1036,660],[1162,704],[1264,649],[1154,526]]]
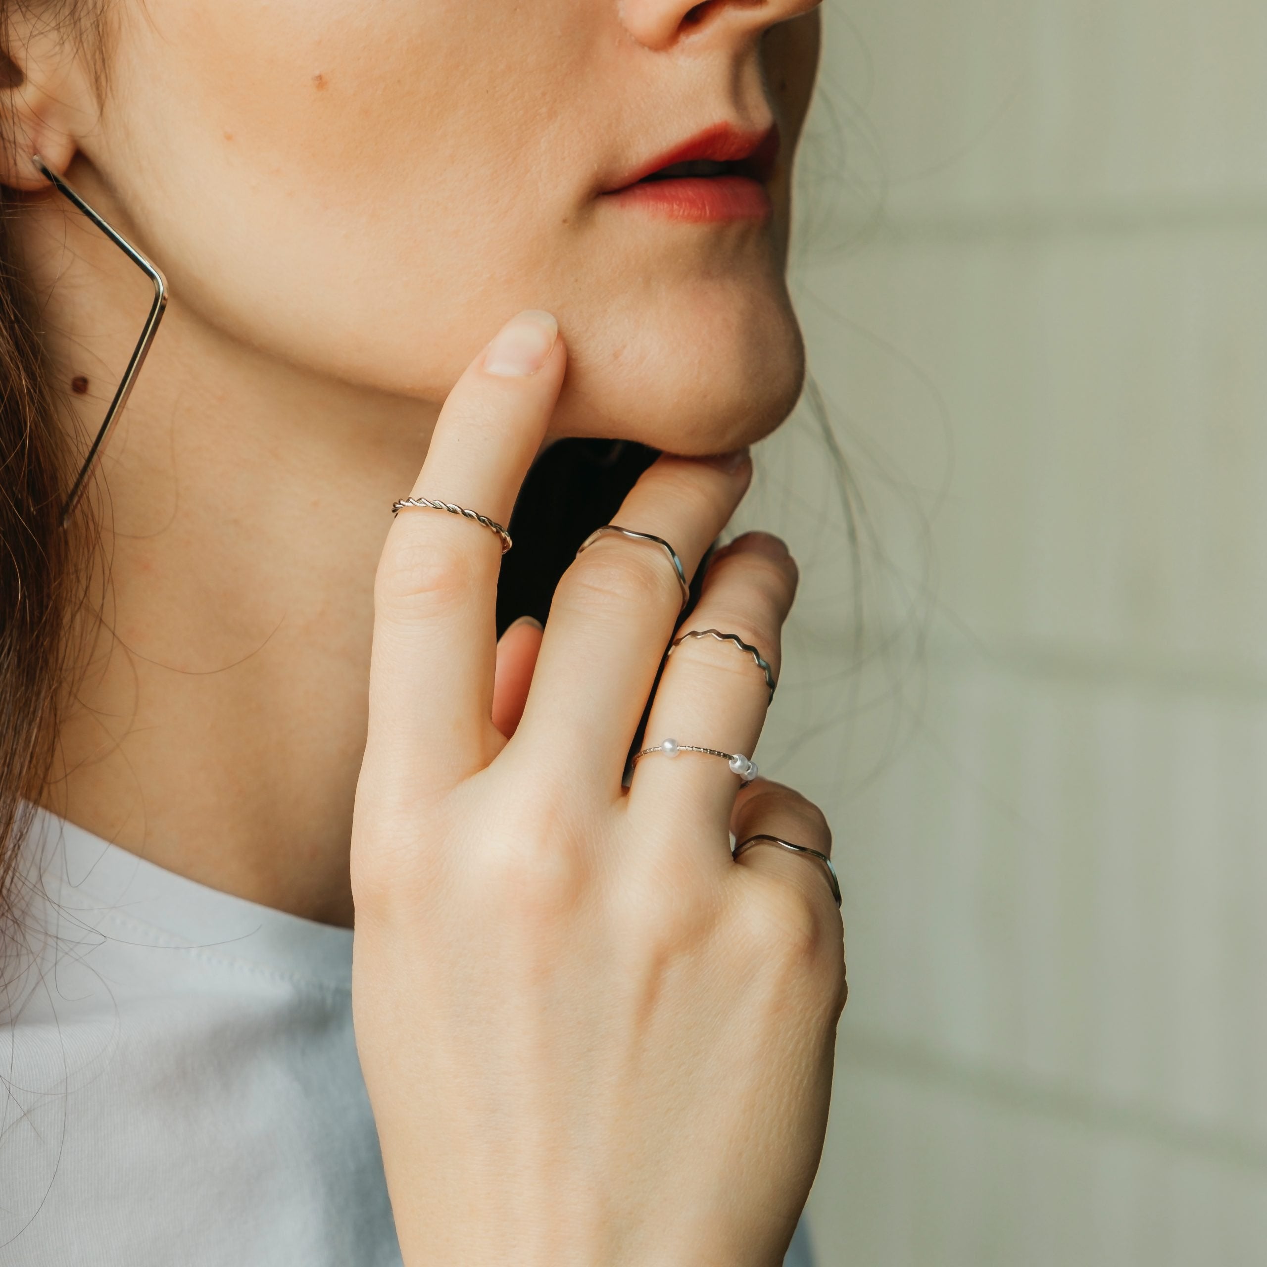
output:
[[[830,4],[797,276],[888,552],[851,685],[821,450],[750,507],[839,599],[761,754],[849,715],[780,760],[848,887],[821,1263],[1267,1263],[1267,4]]]

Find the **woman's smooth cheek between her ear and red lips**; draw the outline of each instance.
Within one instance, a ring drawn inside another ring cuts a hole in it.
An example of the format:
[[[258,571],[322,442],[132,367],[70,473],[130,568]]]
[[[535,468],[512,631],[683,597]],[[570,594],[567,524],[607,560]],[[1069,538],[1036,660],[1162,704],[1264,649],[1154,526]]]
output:
[[[551,127],[584,24],[544,41],[533,22],[518,0],[170,0],[137,19],[108,170],[174,294],[288,359],[442,390],[465,362],[435,350],[478,347],[464,309],[542,258],[557,217],[525,195],[580,139]]]

